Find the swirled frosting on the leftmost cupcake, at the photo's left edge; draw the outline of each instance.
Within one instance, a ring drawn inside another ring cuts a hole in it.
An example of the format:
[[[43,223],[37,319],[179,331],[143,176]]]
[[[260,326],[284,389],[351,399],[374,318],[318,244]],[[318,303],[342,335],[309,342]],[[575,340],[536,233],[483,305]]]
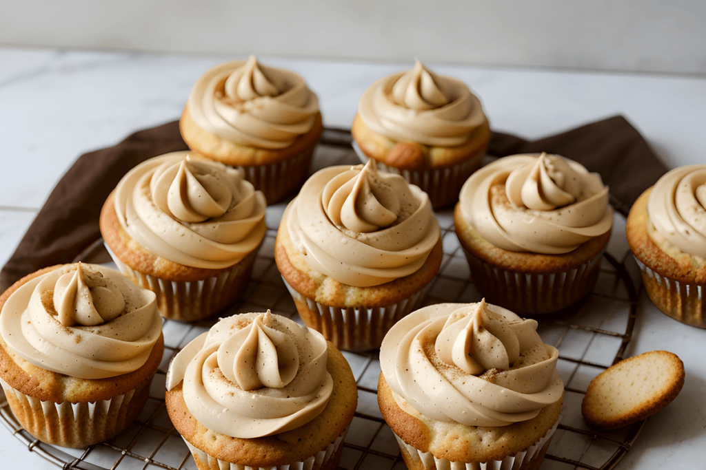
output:
[[[78,378],[139,369],[162,334],[154,292],[118,271],[70,264],[37,276],[7,299],[0,333],[37,367]]]

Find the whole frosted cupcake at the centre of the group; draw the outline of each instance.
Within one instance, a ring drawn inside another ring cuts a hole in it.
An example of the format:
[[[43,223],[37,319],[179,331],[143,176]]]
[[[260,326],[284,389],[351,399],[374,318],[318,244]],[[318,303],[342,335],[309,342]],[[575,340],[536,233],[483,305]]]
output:
[[[380,346],[416,309],[441,265],[426,193],[400,175],[332,166],[311,176],[282,216],[275,261],[299,315],[344,350]]]

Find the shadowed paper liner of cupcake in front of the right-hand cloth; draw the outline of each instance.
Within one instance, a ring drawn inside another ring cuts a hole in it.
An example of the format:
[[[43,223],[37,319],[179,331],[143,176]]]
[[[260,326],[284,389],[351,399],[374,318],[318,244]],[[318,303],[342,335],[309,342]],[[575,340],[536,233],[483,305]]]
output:
[[[473,282],[491,304],[519,314],[548,314],[585,297],[596,285],[605,247],[594,258],[561,273],[520,273],[477,258],[463,245]]]

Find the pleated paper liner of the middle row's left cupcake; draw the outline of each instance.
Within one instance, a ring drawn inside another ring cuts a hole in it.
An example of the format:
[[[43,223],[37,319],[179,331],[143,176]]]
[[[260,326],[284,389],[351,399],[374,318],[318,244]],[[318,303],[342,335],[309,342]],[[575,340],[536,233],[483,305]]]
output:
[[[120,261],[107,245],[105,248],[121,273],[157,294],[157,309],[164,318],[179,321],[202,320],[233,304],[247,287],[256,258],[253,252],[218,276],[177,282],[140,273]]]

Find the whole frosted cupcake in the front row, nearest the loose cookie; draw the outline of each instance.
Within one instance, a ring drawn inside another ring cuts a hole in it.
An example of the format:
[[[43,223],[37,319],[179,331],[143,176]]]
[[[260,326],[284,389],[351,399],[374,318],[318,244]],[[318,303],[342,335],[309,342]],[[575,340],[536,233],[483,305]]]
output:
[[[407,468],[539,468],[563,383],[558,351],[536,330],[484,300],[430,305],[393,326],[378,404]]]

